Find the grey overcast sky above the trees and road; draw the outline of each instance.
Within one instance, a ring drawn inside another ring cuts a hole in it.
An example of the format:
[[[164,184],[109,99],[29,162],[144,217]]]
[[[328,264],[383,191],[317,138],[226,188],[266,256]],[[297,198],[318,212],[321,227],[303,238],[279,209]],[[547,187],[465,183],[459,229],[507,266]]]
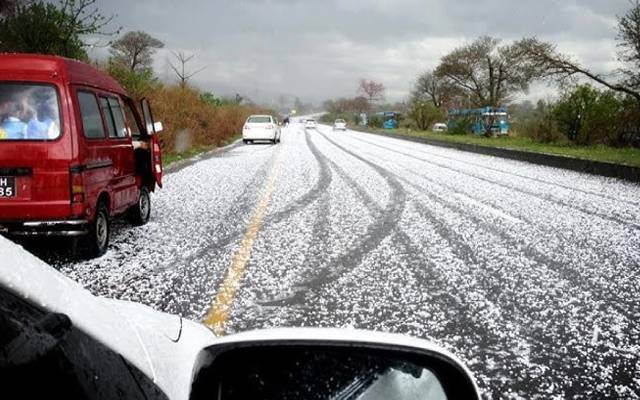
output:
[[[155,67],[173,79],[168,50],[196,55],[194,78],[221,95],[239,92],[321,102],[354,96],[361,77],[408,95],[415,76],[480,35],[536,35],[584,64],[615,67],[616,16],[628,0],[99,0],[123,31],[165,43]],[[537,86],[531,97],[549,91]]]

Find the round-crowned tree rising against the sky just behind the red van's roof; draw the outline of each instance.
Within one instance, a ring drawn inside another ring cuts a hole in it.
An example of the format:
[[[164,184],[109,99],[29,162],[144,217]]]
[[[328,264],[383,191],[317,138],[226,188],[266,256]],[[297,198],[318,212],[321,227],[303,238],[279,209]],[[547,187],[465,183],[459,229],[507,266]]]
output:
[[[164,43],[143,31],[125,33],[111,45],[111,55],[115,62],[131,71],[141,72],[151,68],[152,56]]]

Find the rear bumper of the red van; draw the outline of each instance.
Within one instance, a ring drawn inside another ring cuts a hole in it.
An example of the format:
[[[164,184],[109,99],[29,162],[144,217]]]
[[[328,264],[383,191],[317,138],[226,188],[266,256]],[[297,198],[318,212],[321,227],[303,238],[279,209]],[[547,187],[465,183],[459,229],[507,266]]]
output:
[[[56,221],[0,221],[0,234],[6,236],[76,237],[89,233],[89,222],[83,219]]]

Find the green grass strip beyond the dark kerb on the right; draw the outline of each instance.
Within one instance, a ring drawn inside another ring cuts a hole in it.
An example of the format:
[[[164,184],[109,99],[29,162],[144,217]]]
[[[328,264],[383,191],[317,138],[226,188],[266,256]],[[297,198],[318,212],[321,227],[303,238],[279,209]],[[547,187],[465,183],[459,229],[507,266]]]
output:
[[[530,151],[534,153],[555,154],[580,158],[591,161],[609,162],[614,164],[640,167],[640,149],[633,147],[615,148],[604,145],[578,146],[571,143],[540,143],[530,138],[508,136],[485,138],[475,135],[451,135],[430,131],[416,131],[407,128],[377,129],[356,127],[356,130],[378,133],[395,133],[413,137],[423,137],[453,143],[474,144],[479,146],[499,147],[513,150]]]

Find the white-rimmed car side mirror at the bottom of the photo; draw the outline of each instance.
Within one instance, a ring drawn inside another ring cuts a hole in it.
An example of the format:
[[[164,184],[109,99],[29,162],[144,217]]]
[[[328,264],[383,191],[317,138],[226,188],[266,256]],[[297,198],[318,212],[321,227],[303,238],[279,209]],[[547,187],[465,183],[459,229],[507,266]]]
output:
[[[471,373],[430,342],[384,333],[280,329],[205,350],[192,399],[479,399]]]

